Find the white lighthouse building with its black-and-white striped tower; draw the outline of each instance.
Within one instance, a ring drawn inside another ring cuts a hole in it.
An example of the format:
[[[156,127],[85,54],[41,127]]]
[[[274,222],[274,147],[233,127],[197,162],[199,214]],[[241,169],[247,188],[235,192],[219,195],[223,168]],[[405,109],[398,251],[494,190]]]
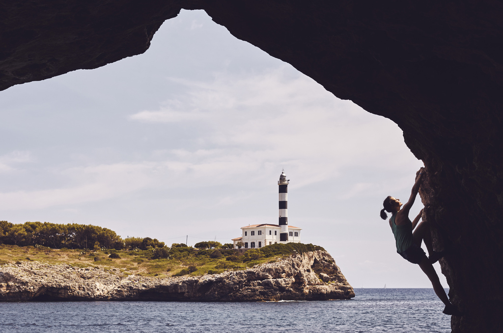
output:
[[[242,241],[244,248],[262,247],[280,243],[300,243],[301,228],[288,225],[288,184],[283,171],[278,181],[279,186],[279,223],[253,224],[241,227],[241,237],[232,239],[234,248]]]

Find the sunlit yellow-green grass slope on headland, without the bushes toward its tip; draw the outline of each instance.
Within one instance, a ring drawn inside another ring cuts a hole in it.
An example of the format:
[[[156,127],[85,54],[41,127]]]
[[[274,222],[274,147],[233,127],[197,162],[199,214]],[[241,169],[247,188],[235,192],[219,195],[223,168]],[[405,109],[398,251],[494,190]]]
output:
[[[176,275],[216,274],[226,270],[243,270],[257,264],[274,262],[279,256],[268,258],[257,256],[253,258],[243,255],[243,251],[226,249],[220,250],[221,256],[215,256],[212,250],[182,248],[184,251],[170,252],[166,259],[152,259],[153,251],[115,251],[115,250],[81,250],[81,249],[52,249],[48,247],[16,246],[0,244],[0,265],[17,262],[37,261],[45,264],[68,264],[78,267],[101,267],[105,270],[119,271],[124,275],[142,275],[150,277],[170,277]],[[116,253],[116,259],[109,258]],[[218,255],[218,254],[216,254]]]

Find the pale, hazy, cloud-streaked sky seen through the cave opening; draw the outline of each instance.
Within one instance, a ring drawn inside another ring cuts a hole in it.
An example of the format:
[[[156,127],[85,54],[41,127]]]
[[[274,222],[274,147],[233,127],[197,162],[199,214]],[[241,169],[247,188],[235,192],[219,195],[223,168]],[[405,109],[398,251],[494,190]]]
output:
[[[355,288],[431,288],[379,217],[386,196],[407,201],[421,166],[391,120],[204,11],[164,22],[144,54],[0,92],[0,220],[228,243],[278,223],[284,170],[289,224]]]

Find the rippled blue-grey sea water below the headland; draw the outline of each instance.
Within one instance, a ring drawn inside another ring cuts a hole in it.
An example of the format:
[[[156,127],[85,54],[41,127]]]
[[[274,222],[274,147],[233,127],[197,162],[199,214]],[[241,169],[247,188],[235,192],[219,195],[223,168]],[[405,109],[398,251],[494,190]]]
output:
[[[450,332],[433,289],[355,289],[344,301],[0,303],[0,332]]]

